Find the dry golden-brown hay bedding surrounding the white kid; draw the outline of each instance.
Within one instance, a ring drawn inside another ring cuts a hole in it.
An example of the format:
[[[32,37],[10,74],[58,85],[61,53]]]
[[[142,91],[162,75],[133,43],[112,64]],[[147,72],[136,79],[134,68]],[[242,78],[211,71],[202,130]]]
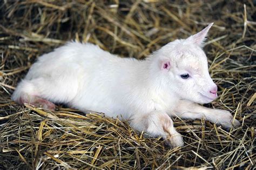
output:
[[[0,168],[250,169],[255,166],[255,4],[248,1],[1,1]],[[205,48],[230,131],[204,120],[174,119],[185,146],[169,148],[129,124],[61,105],[19,106],[10,96],[34,60],[76,39],[125,57],[145,58],[214,22]]]

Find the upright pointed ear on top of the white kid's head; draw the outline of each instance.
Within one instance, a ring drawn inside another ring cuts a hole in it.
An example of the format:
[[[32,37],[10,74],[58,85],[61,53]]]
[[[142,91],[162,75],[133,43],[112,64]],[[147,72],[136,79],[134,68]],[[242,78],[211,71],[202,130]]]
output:
[[[187,39],[190,40],[191,43],[197,44],[200,47],[203,47],[207,33],[210,30],[210,28],[212,27],[212,25],[213,25],[213,23],[209,24],[208,26],[206,26],[205,29],[201,30],[200,32],[196,33],[193,36],[188,37]]]

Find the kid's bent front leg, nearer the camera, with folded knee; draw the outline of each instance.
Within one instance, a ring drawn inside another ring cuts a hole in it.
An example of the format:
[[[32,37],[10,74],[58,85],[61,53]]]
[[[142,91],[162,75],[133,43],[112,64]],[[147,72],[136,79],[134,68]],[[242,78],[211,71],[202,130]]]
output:
[[[131,120],[131,126],[153,137],[163,137],[166,139],[166,144],[172,147],[184,145],[181,134],[176,131],[172,119],[165,112],[136,115]]]

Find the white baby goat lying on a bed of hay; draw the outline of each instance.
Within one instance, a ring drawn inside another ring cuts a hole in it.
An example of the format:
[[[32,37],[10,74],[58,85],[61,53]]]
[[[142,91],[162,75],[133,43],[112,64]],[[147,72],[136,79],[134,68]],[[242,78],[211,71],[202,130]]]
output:
[[[201,49],[212,24],[166,44],[145,60],[120,58],[89,43],[67,43],[38,58],[12,99],[50,110],[55,110],[53,103],[64,103],[81,111],[119,115],[139,131],[161,136],[173,147],[183,146],[170,116],[232,126],[230,112],[196,104],[217,98]]]

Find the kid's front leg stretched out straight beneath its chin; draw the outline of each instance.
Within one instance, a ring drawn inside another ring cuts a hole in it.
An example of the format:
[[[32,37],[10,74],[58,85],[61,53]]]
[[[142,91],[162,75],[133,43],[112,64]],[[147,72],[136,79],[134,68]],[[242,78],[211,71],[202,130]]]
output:
[[[226,129],[232,126],[239,126],[240,123],[234,119],[232,114],[225,110],[207,108],[200,106],[192,101],[180,100],[179,105],[175,108],[174,112],[180,118],[185,119],[201,119],[204,118],[212,123],[221,125]],[[234,124],[233,123],[234,119]]]

